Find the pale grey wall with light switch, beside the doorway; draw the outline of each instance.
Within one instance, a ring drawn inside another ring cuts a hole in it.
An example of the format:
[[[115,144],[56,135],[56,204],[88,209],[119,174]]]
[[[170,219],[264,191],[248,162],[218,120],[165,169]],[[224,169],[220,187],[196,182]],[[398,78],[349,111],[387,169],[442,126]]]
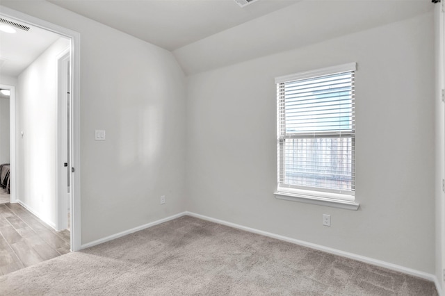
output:
[[[185,211],[185,80],[172,54],[47,1],[1,5],[81,34],[81,243]]]

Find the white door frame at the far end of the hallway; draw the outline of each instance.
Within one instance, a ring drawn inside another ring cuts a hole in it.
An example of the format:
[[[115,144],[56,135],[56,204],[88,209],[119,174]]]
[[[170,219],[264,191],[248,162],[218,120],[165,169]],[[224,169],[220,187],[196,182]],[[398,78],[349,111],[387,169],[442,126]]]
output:
[[[9,185],[10,191],[10,202],[17,202],[15,195],[15,86],[0,84],[0,88],[3,90],[9,90]]]

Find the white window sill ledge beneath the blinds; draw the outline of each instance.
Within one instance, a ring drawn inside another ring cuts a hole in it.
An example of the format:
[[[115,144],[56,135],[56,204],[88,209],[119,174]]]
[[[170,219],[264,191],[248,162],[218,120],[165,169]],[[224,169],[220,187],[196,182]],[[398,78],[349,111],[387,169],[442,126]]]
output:
[[[359,204],[347,200],[330,199],[326,197],[315,197],[291,192],[274,192],[275,198],[289,200],[291,202],[303,202],[305,204],[317,204],[318,206],[330,206],[332,208],[344,208],[357,211]]]

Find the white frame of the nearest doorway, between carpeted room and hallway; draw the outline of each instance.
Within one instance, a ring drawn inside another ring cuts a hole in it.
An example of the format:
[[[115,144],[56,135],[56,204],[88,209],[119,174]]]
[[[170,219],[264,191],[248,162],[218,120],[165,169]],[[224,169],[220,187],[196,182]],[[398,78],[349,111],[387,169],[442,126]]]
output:
[[[57,33],[71,40],[71,90],[72,90],[72,202],[71,202],[71,250],[81,249],[81,162],[80,162],[80,34],[37,17],[0,6],[1,13],[9,19],[30,24]],[[15,172],[14,172],[15,173]],[[15,176],[13,176],[15,178]]]

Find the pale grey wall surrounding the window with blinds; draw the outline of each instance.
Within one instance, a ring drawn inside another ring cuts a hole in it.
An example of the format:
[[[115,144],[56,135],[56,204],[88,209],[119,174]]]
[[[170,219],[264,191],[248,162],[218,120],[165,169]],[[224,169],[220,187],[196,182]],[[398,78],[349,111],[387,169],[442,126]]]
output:
[[[188,211],[433,274],[432,19],[189,76]],[[275,199],[275,76],[349,62],[358,63],[359,211]]]

